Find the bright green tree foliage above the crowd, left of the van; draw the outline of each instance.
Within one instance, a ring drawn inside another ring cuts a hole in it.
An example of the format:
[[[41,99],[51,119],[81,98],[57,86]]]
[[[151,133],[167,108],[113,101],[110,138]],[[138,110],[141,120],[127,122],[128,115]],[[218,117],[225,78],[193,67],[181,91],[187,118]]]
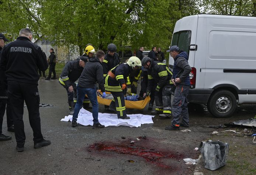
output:
[[[165,51],[170,45],[175,22],[199,12],[200,0],[12,0],[0,1],[0,31],[15,38],[29,27],[34,37],[53,45],[78,45],[80,54],[87,43],[107,50],[109,43]]]

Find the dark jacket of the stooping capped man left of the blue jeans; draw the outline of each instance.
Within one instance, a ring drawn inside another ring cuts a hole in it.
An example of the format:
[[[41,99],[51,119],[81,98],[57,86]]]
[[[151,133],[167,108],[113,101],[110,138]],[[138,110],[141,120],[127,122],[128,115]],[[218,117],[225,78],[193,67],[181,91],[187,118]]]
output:
[[[59,81],[62,85],[70,87],[73,85],[73,88],[76,88],[75,81],[81,76],[83,72],[83,67],[79,66],[79,60],[73,60],[68,62],[60,74]]]

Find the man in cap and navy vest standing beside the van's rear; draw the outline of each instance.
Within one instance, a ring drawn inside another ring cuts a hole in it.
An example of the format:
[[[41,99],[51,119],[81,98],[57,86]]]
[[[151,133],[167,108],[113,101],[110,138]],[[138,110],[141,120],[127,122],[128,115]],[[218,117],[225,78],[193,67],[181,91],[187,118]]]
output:
[[[179,130],[180,126],[189,127],[187,95],[190,87],[189,74],[191,67],[188,64],[187,52],[180,50],[178,46],[172,46],[166,52],[174,59],[172,82],[176,85],[172,104],[172,125],[166,130]],[[180,123],[180,117],[183,116]]]

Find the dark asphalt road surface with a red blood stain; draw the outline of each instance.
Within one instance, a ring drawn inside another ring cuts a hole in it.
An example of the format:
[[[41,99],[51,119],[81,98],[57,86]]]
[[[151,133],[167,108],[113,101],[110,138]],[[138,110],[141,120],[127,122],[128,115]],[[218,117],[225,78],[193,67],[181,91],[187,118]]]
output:
[[[200,126],[248,119],[256,113],[255,105],[243,105],[238,106],[232,117],[218,119],[210,115],[205,106],[190,105],[189,129],[192,132],[188,133],[165,130],[171,119],[159,119],[158,116],[153,118],[154,124],[138,128],[73,128],[71,122],[60,122],[68,115],[68,102],[66,90],[58,80],[40,79],[38,88],[40,103],[53,105],[40,108],[42,134],[52,143],[33,148],[32,129],[27,108],[24,108],[27,139],[24,152],[18,153],[14,133],[7,132],[4,117],[3,133],[13,138],[0,142],[0,174],[193,174],[196,166],[186,165],[183,158],[197,159],[199,153],[194,148],[210,139],[212,131],[216,130]],[[150,114],[147,109],[148,106],[143,110],[128,109],[127,113]],[[104,112],[103,105],[99,112]],[[221,139],[226,140],[225,137]],[[135,143],[131,144],[131,140]],[[228,168],[218,173],[229,172]]]

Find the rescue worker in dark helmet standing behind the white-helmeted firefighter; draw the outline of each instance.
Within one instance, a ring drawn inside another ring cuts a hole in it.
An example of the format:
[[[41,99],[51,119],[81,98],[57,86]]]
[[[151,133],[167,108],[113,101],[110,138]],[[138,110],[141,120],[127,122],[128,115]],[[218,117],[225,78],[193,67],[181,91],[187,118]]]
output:
[[[120,64],[120,58],[118,56],[117,46],[115,46],[113,43],[110,43],[108,45],[108,51],[104,57],[102,66],[103,66],[103,76],[106,78],[108,71],[110,71],[112,68]],[[105,105],[105,110],[108,111],[109,106]]]

